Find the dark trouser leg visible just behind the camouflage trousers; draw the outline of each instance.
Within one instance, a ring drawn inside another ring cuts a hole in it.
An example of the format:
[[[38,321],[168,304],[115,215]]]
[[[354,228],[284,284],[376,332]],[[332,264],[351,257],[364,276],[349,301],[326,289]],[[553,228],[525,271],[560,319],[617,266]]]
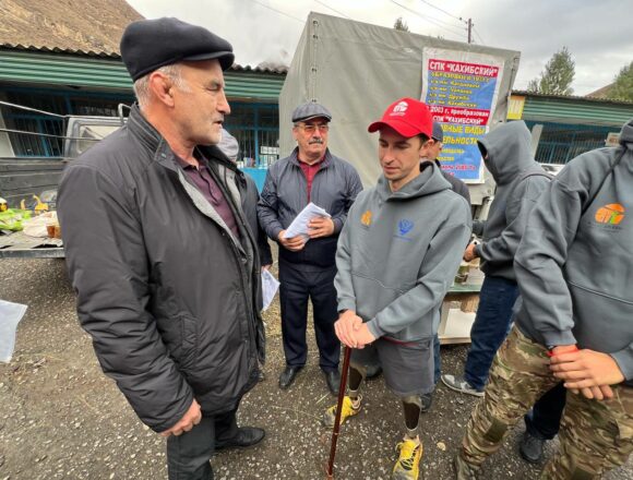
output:
[[[537,439],[552,440],[561,425],[565,408],[566,388],[563,383],[548,391],[525,416],[525,428]]]

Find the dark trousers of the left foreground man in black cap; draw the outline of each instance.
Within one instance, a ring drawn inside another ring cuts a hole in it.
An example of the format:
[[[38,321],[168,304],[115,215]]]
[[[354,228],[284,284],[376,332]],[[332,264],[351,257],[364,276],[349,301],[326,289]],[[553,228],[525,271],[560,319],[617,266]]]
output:
[[[167,439],[169,480],[213,480],[208,461],[217,443],[237,435],[236,411],[237,408],[218,416],[203,413],[200,423],[189,432]]]

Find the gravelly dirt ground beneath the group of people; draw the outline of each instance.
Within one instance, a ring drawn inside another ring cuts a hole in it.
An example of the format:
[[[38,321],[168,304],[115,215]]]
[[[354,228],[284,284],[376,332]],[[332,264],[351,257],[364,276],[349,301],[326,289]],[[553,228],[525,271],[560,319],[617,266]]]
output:
[[[60,260],[0,260],[0,298],[26,303],[16,349],[0,364],[0,480],[166,478],[164,440],[139,422],[114,382],[96,361],[80,328],[74,293]],[[266,429],[262,445],[214,457],[215,478],[323,479],[330,431],[319,419],[333,404],[311,340],[309,364],[296,384],[279,391],[284,360],[278,305],[266,314],[267,379],[248,394],[241,424]],[[312,336],[312,333],[310,333]],[[442,348],[443,370],[463,368],[466,347]],[[365,388],[365,409],[343,429],[336,478],[387,479],[402,435],[397,400],[381,380]],[[452,479],[451,460],[475,398],[439,386],[431,411],[422,418],[426,479]],[[516,443],[523,424],[485,465],[485,479],[529,480],[540,466],[523,461]],[[548,447],[551,454],[556,442]],[[633,463],[611,480],[633,479]]]

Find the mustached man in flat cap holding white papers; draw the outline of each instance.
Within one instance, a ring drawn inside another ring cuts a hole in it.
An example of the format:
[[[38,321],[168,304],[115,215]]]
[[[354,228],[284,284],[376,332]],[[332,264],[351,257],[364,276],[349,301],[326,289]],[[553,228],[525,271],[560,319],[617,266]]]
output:
[[[330,391],[338,392],[341,344],[334,334],[336,310],[335,253],[338,233],[356,195],[362,190],[351,165],[332,155],[327,134],[332,115],[322,105],[309,103],[292,112],[297,147],[274,164],[266,181],[258,215],[266,235],[279,244],[282,334],[286,369],[279,387],[288,388],[306,364],[308,300],[312,300],[319,365]],[[310,221],[310,236],[286,237],[286,229],[310,203],[331,217]]]

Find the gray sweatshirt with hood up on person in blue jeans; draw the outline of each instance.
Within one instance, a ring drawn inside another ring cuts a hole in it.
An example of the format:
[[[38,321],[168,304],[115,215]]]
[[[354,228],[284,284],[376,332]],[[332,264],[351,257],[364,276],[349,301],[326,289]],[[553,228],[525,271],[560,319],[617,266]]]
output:
[[[497,182],[497,193],[483,224],[483,241],[475,253],[481,259],[486,275],[516,281],[512,267],[514,253],[529,212],[549,178],[532,156],[532,135],[523,121],[498,127],[478,145],[483,157],[488,154],[483,161]],[[475,233],[480,235],[478,228]]]

